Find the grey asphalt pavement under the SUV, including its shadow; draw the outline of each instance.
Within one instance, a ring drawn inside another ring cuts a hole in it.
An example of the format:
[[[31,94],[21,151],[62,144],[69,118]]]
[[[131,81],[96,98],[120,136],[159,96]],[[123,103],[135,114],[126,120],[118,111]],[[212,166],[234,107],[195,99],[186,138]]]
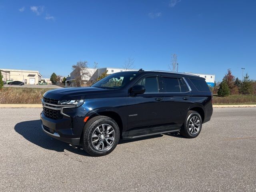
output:
[[[0,109],[0,191],[256,191],[256,108],[216,108],[200,135],[121,141],[103,157],[45,135],[40,109]]]

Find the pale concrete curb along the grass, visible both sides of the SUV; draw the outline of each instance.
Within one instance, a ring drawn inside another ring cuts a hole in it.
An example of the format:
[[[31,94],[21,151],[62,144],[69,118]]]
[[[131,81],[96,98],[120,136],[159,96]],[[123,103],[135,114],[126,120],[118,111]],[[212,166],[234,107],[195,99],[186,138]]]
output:
[[[213,105],[213,108],[256,107],[256,105]],[[0,104],[0,108],[42,108],[42,104]]]

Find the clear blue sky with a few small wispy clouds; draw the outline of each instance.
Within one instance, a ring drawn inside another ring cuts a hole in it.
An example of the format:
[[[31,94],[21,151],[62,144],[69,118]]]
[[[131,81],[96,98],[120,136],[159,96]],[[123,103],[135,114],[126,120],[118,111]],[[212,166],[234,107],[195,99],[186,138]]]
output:
[[[67,76],[86,60],[99,67],[256,79],[255,0],[1,0],[0,68]]]

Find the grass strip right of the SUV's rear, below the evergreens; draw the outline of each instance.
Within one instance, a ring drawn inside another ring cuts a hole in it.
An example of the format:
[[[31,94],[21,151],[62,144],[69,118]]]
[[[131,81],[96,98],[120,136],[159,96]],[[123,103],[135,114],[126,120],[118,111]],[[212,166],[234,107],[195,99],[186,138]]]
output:
[[[256,95],[230,95],[227,97],[213,96],[214,105],[236,105],[236,104],[256,104]]]

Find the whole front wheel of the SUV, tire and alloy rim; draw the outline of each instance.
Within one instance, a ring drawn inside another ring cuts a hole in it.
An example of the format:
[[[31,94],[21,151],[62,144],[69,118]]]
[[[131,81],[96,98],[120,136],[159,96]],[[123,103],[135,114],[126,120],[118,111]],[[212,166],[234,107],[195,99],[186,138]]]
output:
[[[107,116],[96,116],[84,126],[82,145],[92,156],[104,156],[116,148],[120,131],[116,122]]]

